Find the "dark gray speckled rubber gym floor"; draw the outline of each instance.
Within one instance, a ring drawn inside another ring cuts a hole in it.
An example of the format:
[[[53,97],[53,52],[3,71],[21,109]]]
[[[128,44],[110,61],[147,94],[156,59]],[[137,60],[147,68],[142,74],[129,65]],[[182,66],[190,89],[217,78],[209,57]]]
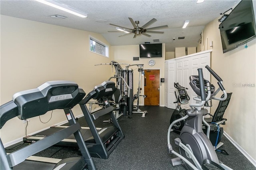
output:
[[[183,166],[173,167],[171,165],[170,159],[175,156],[169,154],[167,149],[167,129],[173,110],[158,106],[145,106],[140,109],[148,111],[145,118],[136,113],[132,119],[127,117],[118,119],[125,138],[116,146],[108,159],[93,158],[98,170],[184,170]],[[97,120],[96,127],[108,126],[108,123],[102,123],[102,120],[105,119],[107,118],[102,117]],[[81,126],[87,126],[83,117],[79,118],[78,122]],[[173,142],[176,137],[178,134],[172,133],[171,141]],[[226,137],[223,137],[222,142],[224,142],[224,146],[221,149],[226,150],[229,155],[219,152],[217,154],[224,164],[234,170],[256,170]],[[24,145],[26,144],[22,146]],[[174,144],[172,146],[178,152],[178,146]],[[7,150],[7,152],[12,151]],[[78,150],[52,146],[36,156],[63,159],[78,156]]]

